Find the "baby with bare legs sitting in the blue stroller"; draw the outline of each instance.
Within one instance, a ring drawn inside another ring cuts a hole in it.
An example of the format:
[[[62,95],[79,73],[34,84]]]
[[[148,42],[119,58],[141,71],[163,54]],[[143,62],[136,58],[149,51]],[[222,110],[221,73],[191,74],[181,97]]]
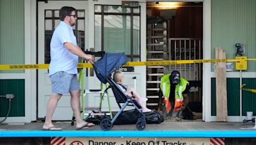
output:
[[[139,93],[134,88],[127,88],[127,86],[124,85],[125,76],[122,71],[115,71],[113,74],[113,79],[126,95],[131,98],[135,98],[136,102],[138,102],[138,104],[141,106],[141,111],[143,113],[152,111],[151,109],[148,109],[145,104],[143,104],[143,102],[148,100],[147,98],[140,97]]]

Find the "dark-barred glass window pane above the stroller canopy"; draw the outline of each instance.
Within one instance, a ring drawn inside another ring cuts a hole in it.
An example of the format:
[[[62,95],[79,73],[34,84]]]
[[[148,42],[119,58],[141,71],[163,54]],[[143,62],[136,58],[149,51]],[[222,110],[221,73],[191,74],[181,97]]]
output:
[[[140,8],[95,5],[95,49],[140,60]]]

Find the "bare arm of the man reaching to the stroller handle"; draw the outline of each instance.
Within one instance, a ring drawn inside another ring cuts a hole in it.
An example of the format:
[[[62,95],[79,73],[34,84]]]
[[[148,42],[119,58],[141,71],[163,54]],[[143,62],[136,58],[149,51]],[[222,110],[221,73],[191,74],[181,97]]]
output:
[[[70,51],[74,55],[77,55],[83,59],[86,59],[93,64],[94,60],[92,55],[84,53],[83,50],[79,48],[79,46],[73,45],[72,43],[68,43],[68,42],[64,43],[64,46],[68,49],[68,51]]]

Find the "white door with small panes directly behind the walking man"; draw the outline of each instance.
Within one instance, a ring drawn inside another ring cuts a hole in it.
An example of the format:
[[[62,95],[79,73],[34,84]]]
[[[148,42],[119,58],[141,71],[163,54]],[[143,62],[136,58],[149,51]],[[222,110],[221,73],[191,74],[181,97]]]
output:
[[[51,36],[60,22],[59,10],[62,6],[72,6],[77,10],[77,24],[73,30],[77,45],[84,48],[87,32],[88,1],[48,1],[38,2],[38,64],[49,64]],[[86,45],[87,47],[87,45]],[[38,69],[38,118],[45,117],[46,105],[51,96],[51,80],[48,69]],[[71,120],[70,95],[65,94],[58,102],[52,120]]]

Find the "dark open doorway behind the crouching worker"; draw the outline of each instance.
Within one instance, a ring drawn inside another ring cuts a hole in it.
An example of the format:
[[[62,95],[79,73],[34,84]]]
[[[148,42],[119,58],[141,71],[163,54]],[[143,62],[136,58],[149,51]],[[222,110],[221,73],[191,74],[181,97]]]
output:
[[[203,59],[203,3],[147,3],[147,60]],[[173,70],[189,81],[189,107],[202,118],[203,64],[147,67],[147,106],[163,111],[160,79]]]

